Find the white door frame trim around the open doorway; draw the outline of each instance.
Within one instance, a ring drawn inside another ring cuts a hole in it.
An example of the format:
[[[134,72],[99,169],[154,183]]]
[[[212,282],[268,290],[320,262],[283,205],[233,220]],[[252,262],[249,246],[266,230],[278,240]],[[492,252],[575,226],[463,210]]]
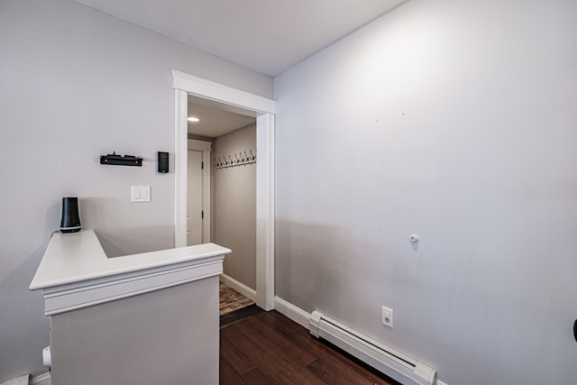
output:
[[[275,102],[233,87],[172,70],[175,92],[175,247],[187,244],[188,94],[257,113],[256,303],[274,308],[274,114]]]

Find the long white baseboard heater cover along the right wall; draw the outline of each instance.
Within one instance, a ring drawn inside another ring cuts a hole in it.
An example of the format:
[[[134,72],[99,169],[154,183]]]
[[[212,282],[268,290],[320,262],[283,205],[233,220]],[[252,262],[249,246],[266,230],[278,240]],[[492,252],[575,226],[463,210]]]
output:
[[[323,338],[404,385],[436,385],[436,370],[314,311],[310,334]]]

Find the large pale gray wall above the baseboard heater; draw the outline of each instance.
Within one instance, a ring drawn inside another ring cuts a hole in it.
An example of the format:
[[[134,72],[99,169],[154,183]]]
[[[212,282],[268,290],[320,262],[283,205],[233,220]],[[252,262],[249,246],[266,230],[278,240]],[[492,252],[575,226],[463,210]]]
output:
[[[277,296],[450,385],[573,383],[576,5],[411,0],[275,78]]]

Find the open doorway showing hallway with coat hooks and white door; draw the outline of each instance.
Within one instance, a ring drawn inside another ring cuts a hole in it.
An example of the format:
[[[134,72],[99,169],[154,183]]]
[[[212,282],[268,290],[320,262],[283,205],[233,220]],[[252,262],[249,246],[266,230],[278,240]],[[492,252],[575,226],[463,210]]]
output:
[[[254,115],[188,96],[187,244],[213,242],[231,249],[221,281],[252,301],[256,300]],[[204,161],[206,151],[209,161]]]

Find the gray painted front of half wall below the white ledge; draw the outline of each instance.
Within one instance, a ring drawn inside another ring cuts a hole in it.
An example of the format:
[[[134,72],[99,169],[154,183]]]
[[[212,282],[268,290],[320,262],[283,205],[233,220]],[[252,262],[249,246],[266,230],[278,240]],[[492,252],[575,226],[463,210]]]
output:
[[[51,316],[55,385],[218,383],[218,277]]]

